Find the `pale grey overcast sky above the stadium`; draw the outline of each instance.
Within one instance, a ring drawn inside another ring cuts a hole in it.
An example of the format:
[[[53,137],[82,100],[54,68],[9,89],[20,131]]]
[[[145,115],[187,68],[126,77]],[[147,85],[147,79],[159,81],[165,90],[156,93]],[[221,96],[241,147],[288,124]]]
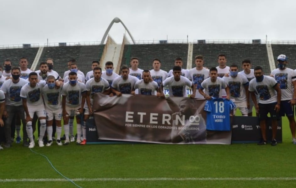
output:
[[[0,0],[0,45],[101,41],[118,17],[135,40],[296,40],[293,0]],[[125,29],[109,34],[121,43]]]

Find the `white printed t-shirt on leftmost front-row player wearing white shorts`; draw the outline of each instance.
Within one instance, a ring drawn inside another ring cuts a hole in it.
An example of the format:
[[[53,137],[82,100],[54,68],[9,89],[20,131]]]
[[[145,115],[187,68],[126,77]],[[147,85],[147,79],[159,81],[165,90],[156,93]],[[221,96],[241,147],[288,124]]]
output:
[[[21,91],[20,91],[20,97],[27,99],[27,106],[29,111],[38,110],[40,107],[44,107],[43,99],[41,96],[41,90],[45,86],[46,81],[40,80],[38,83],[36,83],[35,87],[31,87],[30,83],[25,84]]]

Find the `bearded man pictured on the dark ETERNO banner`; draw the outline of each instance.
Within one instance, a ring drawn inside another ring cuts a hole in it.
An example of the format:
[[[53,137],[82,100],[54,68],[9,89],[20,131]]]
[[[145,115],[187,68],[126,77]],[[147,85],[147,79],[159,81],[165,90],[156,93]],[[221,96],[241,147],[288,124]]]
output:
[[[173,127],[171,139],[173,143],[206,143],[206,123],[197,109],[195,99],[184,98],[179,104],[180,111],[172,115]],[[179,117],[178,117],[179,116]],[[185,119],[185,123],[179,121]]]

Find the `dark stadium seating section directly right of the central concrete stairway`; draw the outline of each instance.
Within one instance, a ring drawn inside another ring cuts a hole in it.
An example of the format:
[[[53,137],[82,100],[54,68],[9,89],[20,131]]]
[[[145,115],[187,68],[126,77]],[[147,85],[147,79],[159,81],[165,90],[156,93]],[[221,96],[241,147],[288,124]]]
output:
[[[169,72],[176,57],[183,59],[183,69],[187,65],[188,44],[126,44],[121,65],[130,66],[131,57],[139,59],[140,69],[153,69],[152,60],[161,60],[161,69]]]

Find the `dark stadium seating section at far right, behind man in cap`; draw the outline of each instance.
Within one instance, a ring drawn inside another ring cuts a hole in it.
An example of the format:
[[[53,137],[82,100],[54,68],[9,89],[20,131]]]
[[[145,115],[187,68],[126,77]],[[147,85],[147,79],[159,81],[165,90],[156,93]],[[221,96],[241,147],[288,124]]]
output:
[[[288,67],[296,69],[296,45],[295,44],[272,44],[272,53],[277,67],[277,56],[284,54],[288,57]]]

